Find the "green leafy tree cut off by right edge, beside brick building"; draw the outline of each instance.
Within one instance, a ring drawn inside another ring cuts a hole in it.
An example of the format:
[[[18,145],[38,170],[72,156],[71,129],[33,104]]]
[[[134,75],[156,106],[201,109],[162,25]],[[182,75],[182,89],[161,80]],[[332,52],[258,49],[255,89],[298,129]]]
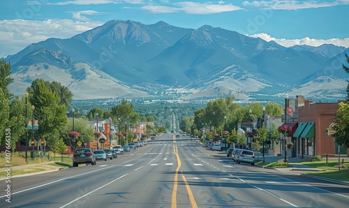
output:
[[[334,138],[336,143],[349,148],[349,103],[338,103],[339,109],[336,114],[334,125]]]

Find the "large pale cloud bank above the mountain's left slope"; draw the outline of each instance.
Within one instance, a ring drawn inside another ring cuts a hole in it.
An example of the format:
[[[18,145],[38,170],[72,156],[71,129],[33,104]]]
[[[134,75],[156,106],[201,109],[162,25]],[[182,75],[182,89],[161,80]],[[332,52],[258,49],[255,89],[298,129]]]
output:
[[[0,20],[0,57],[20,52],[29,44],[47,38],[70,38],[103,23],[73,20]]]

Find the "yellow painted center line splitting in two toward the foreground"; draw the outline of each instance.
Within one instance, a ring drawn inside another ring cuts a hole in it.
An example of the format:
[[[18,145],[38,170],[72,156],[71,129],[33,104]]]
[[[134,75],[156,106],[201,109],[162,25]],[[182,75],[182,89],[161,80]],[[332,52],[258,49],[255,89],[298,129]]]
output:
[[[171,207],[177,208],[177,188],[178,188],[178,171],[181,167],[181,159],[179,158],[178,149],[177,146],[173,146],[174,154],[177,156],[178,161],[178,167],[176,169],[176,172],[174,173],[174,184],[173,184],[173,191],[172,191],[172,200],[171,200]],[[191,187],[188,184],[188,181],[186,181],[186,177],[182,174],[182,179],[184,181],[184,184],[186,184],[186,191],[188,192],[189,200],[191,200],[191,207],[197,208],[198,205],[196,205],[195,198],[193,195],[193,192],[191,192]]]

